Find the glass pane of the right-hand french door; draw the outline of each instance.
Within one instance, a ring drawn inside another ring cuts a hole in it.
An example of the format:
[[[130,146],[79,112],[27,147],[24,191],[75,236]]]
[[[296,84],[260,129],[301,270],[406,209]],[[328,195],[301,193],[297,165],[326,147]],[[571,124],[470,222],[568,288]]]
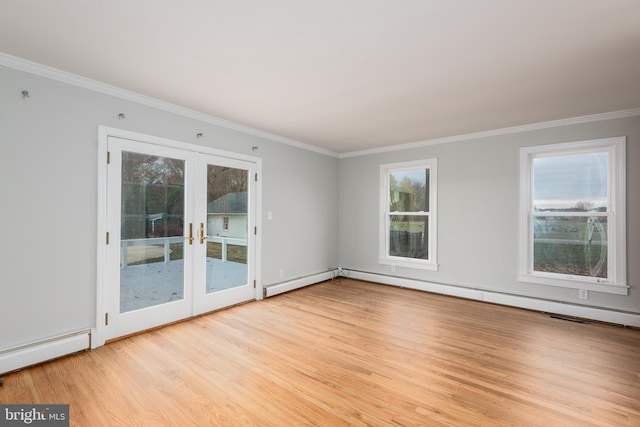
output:
[[[207,293],[247,284],[248,176],[207,166]]]

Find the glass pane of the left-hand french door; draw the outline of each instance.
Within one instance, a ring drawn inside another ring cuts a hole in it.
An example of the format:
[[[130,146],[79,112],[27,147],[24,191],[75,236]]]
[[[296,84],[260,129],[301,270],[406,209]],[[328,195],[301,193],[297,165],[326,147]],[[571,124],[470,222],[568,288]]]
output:
[[[184,160],[122,152],[120,312],[184,298]]]

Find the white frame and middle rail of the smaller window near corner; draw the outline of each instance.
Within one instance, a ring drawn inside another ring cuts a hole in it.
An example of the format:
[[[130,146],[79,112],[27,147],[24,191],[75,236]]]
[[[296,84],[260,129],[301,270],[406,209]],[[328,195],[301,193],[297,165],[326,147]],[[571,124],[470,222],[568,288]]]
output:
[[[429,217],[428,245],[429,259],[406,258],[389,255],[389,176],[392,172],[415,169],[429,169],[429,212],[394,212],[394,214],[426,215]],[[379,214],[379,257],[380,264],[395,267],[408,267],[422,270],[438,270],[437,262],[437,189],[438,189],[438,161],[437,159],[416,160],[401,163],[388,163],[380,165],[380,214]]]

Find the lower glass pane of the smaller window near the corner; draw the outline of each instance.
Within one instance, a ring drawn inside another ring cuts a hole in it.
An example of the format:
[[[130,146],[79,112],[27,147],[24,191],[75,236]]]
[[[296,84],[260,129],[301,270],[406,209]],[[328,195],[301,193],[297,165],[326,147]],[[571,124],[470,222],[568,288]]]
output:
[[[429,216],[390,215],[389,255],[429,259]]]

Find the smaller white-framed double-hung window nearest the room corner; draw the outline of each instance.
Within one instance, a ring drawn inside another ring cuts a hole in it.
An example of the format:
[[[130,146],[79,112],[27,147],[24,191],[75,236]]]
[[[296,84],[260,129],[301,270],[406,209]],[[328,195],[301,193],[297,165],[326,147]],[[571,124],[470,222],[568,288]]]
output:
[[[437,270],[435,159],[380,166],[381,264]]]

